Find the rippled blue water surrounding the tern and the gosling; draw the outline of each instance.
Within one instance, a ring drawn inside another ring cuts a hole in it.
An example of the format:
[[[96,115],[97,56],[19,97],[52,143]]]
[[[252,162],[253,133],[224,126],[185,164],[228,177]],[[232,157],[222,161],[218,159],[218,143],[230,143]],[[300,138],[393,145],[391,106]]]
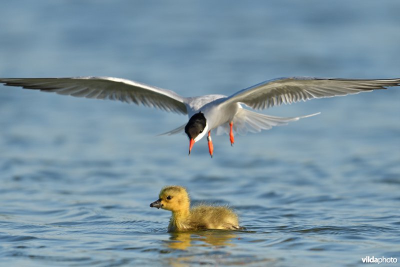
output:
[[[108,75],[182,95],[288,76],[398,77],[397,0],[7,1],[0,73]],[[0,265],[361,265],[400,260],[400,88],[265,111],[318,116],[213,136],[187,118],[0,86]],[[240,231],[167,233],[160,188],[229,204]]]

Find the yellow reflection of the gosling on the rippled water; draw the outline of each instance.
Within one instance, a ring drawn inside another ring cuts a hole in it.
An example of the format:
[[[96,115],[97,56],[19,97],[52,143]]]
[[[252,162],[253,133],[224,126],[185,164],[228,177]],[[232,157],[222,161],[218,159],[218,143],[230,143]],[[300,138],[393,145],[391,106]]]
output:
[[[173,232],[165,242],[168,248],[187,249],[190,246],[234,246],[237,235],[225,230],[205,230],[196,232]]]

